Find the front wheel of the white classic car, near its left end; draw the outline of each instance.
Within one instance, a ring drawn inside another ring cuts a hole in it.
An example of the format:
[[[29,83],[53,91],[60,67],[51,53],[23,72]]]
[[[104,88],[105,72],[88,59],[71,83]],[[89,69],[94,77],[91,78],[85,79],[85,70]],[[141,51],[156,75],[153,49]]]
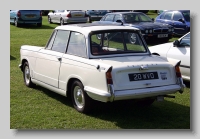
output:
[[[35,87],[35,84],[31,81],[31,74],[28,62],[25,62],[23,65],[23,77],[26,86],[30,88]]]

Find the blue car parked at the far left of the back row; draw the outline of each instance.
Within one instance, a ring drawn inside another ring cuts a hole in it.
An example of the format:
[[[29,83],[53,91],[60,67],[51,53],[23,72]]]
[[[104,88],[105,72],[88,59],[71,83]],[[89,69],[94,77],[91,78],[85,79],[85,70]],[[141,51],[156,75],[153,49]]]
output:
[[[10,10],[10,23],[19,27],[22,24],[42,26],[41,10]]]

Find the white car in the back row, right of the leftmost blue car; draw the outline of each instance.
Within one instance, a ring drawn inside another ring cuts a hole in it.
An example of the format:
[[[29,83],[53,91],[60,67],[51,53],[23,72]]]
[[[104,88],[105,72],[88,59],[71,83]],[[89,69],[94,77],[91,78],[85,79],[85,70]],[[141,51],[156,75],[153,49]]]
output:
[[[87,23],[88,15],[83,10],[53,10],[48,14],[49,23]]]

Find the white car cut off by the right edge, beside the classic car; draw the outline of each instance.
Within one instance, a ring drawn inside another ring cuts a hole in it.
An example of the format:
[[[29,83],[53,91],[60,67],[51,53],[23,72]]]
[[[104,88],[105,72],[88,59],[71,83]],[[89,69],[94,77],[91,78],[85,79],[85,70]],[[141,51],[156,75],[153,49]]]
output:
[[[181,60],[182,78],[190,81],[190,32],[174,42],[152,46],[149,49],[152,54]]]

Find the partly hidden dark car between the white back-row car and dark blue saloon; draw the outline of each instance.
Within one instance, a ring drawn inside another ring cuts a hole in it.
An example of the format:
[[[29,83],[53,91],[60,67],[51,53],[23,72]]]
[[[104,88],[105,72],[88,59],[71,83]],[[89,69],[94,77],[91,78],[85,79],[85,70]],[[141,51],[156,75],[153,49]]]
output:
[[[109,13],[109,10],[87,10],[88,20],[92,21],[100,20],[105,14]]]

